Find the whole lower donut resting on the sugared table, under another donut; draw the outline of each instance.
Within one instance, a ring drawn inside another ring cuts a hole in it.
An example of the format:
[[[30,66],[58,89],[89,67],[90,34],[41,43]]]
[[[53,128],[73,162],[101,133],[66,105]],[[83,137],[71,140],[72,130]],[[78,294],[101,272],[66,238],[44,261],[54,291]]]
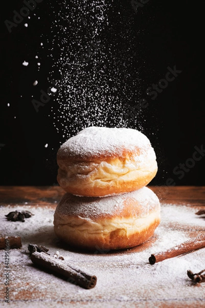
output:
[[[138,246],[159,224],[160,201],[148,187],[104,198],[66,193],[54,214],[57,237],[90,251]]]

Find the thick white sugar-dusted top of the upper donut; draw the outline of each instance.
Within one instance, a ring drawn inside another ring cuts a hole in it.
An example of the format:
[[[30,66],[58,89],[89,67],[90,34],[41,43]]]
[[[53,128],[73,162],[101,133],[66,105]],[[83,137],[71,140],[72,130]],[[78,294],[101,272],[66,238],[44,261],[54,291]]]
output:
[[[90,126],[63,143],[58,156],[83,159],[113,155],[124,157],[132,152],[143,154],[150,149],[149,139],[136,129]],[[155,159],[153,149],[149,154]]]

